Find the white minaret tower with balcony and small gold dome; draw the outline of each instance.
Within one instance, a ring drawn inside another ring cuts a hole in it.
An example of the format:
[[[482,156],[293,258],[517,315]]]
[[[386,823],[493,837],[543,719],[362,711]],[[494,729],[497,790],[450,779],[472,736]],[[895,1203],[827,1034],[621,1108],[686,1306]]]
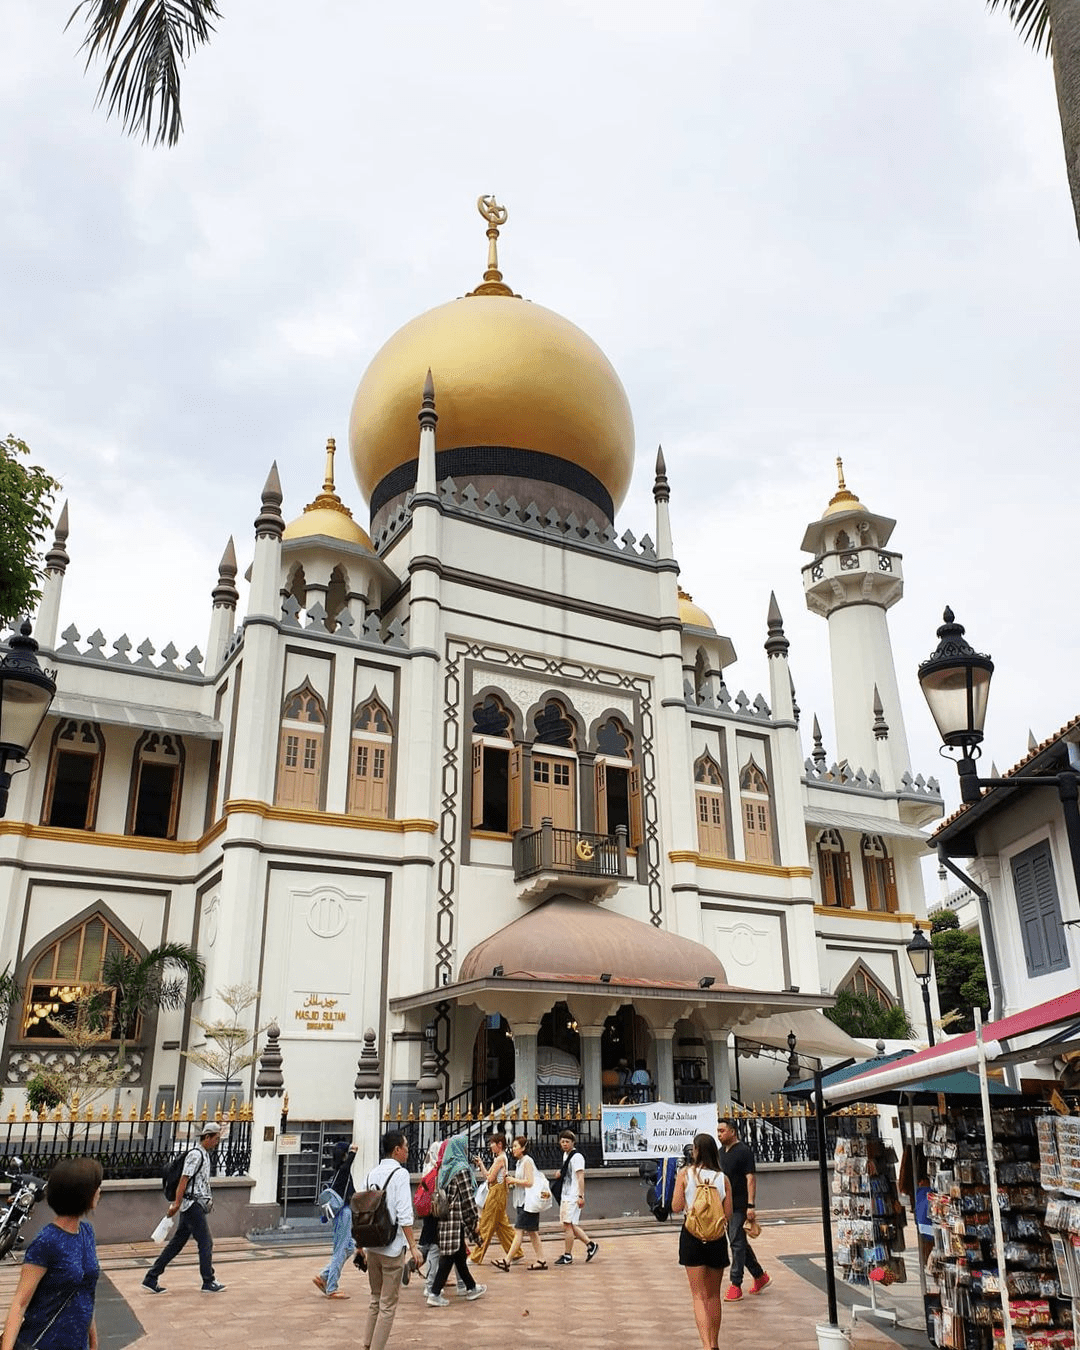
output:
[[[895,791],[910,768],[887,617],[903,595],[900,555],[886,547],[896,521],[867,510],[844,482],[842,460],[836,464],[837,490],[802,541],[814,555],[802,570],[806,605],[829,621],[837,759],[878,768]],[[882,718],[884,741],[875,732]]]

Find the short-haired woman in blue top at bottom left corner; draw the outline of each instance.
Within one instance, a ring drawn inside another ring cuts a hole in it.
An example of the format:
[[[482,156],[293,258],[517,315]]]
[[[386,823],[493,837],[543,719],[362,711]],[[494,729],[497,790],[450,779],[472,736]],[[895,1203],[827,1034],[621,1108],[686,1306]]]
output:
[[[57,1215],[26,1249],[0,1350],[97,1350],[93,1299],[101,1268],[85,1222],[101,1195],[101,1164],[69,1158],[49,1173],[45,1199]]]

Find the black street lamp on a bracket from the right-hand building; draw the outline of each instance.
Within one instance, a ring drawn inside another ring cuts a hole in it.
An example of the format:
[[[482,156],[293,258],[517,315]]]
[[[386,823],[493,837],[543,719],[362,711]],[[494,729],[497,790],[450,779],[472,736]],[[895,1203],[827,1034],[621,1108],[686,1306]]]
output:
[[[945,622],[937,630],[938,645],[919,666],[919,686],[944,745],[960,751],[956,761],[960,799],[969,806],[979,801],[984,787],[1056,787],[1065,819],[1076,891],[1080,895],[1080,774],[1068,768],[1053,775],[979,778],[975,761],[981,753],[979,747],[994,662],[965,641],[964,626],[956,622],[950,609],[946,608],[942,617]]]

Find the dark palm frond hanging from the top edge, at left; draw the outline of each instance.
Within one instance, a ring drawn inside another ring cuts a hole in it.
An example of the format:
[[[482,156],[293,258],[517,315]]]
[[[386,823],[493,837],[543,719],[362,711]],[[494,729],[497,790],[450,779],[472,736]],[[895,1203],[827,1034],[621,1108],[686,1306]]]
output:
[[[142,131],[143,140],[153,131],[155,146],[174,146],[184,130],[180,68],[209,42],[211,19],[221,18],[215,0],[80,0],[68,27],[84,11],[86,69],[108,58],[97,101],[108,116],[119,113],[124,131]]]

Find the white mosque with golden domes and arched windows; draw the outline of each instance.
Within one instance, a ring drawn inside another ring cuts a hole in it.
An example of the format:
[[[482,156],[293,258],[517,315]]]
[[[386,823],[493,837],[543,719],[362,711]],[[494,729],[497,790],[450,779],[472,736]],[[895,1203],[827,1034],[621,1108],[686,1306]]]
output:
[[[425,1073],[462,1106],[560,1081],[599,1103],[622,1061],[662,1099],[726,1102],[736,1037],[783,1053],[798,1027],[809,1049],[842,988],[919,1006],[903,948],[942,803],[909,763],[895,521],[841,474],[802,540],[829,625],[828,763],[817,728],[803,747],[775,601],[768,687],[748,695],[680,590],[663,455],[649,532],[617,521],[634,468],[618,375],[514,294],[506,213],[479,205],[479,285],[359,382],[366,525],[332,440],[302,510],[282,513],[274,466],[254,537],[219,564],[205,656],[58,630],[65,508],[35,618],[58,694],[0,821],[0,963],[24,991],[5,1103],[76,1053],[49,1013],[104,953],[165,941],[207,963],[201,1017],[216,991],[258,991],[252,1025],[278,1022],[310,1129],[352,1118],[369,1027],[390,1108]],[[147,1015],[126,1104],[216,1100],[182,1053],[197,1035],[189,1013]]]

